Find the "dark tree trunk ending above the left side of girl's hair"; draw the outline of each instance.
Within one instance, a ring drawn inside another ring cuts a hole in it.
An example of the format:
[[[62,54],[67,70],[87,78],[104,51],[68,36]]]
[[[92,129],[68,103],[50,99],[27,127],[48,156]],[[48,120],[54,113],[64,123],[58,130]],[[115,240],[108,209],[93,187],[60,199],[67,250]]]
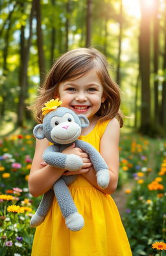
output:
[[[42,36],[42,21],[41,21],[41,6],[40,0],[35,0],[35,11],[37,21],[37,46],[38,46],[38,62],[40,68],[40,83],[42,83],[45,77],[45,57],[43,52],[43,36]]]

